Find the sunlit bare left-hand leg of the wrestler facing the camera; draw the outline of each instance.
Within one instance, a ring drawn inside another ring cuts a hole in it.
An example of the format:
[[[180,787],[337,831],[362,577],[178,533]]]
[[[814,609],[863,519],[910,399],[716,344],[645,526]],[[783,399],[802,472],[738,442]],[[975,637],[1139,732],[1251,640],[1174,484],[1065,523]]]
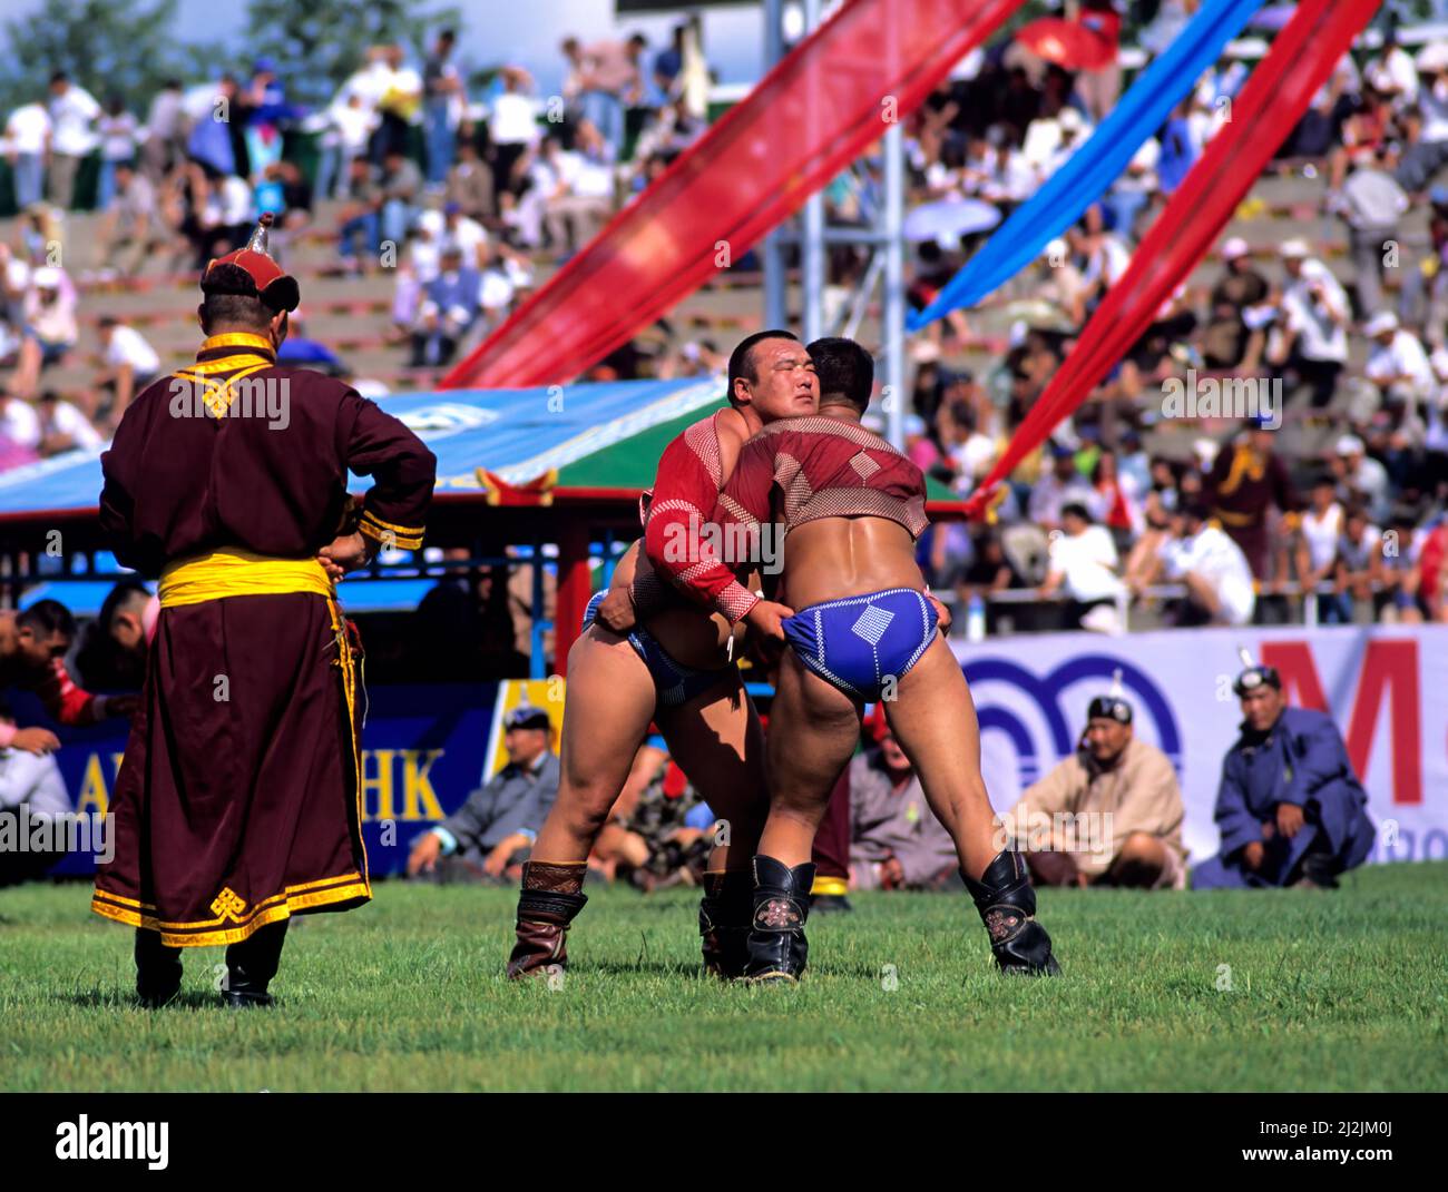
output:
[[[598,625],[568,652],[560,778],[533,859],[586,861],[653,719],[653,677],[624,638]]]

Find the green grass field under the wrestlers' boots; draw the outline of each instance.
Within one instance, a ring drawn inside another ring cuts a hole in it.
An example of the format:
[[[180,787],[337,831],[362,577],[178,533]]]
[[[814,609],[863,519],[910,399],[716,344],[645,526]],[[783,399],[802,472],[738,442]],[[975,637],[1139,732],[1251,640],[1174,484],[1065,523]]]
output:
[[[964,894],[857,895],[798,988],[701,976],[694,897],[627,890],[591,891],[562,988],[511,985],[513,891],[384,882],[294,920],[279,1005],[243,1014],[210,992],[220,949],[187,955],[180,1005],[135,1008],[130,933],[87,900],[0,891],[0,1088],[1448,1088],[1448,864],[1047,893],[1058,981],[996,975]]]

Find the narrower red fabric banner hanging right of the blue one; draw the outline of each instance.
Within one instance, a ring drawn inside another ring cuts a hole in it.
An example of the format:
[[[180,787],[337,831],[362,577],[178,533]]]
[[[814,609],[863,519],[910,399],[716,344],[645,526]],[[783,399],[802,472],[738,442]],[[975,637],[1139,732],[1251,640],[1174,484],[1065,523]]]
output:
[[[1326,82],[1380,0],[1302,0],[1232,101],[1222,124],[1141,240],[1131,266],[1102,298],[1074,350],[1025,415],[1005,454],[966,502],[972,515],[993,489],[1086,398],[1151,325],[1161,304],[1206,256],[1237,204]]]

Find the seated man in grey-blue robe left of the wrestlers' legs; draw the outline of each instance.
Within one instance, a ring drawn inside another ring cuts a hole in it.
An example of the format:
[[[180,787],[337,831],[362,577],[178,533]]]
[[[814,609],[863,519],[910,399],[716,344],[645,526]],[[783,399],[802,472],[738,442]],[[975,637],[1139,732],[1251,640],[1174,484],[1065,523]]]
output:
[[[553,726],[539,707],[508,713],[502,738],[508,764],[453,814],[424,832],[407,858],[407,875],[434,881],[515,881],[510,867],[527,861],[553,800],[557,799],[557,754]]]

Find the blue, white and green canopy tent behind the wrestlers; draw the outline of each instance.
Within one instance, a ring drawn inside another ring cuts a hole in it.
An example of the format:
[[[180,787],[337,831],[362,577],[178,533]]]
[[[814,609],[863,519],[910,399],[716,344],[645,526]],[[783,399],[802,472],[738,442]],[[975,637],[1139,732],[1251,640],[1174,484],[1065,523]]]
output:
[[[394,393],[379,405],[437,456],[429,547],[468,548],[473,561],[505,551],[556,560],[562,621],[579,592],[588,599],[591,560],[637,535],[639,493],[665,446],[720,408],[723,391],[721,378],[689,378]],[[353,480],[366,490],[365,477]],[[0,473],[0,553],[17,602],[100,606],[117,571],[96,521],[100,489],[100,451]],[[960,514],[956,495],[934,482],[930,498],[933,514]],[[376,580],[349,579],[348,609],[416,608],[442,573],[404,554],[379,564]]]

